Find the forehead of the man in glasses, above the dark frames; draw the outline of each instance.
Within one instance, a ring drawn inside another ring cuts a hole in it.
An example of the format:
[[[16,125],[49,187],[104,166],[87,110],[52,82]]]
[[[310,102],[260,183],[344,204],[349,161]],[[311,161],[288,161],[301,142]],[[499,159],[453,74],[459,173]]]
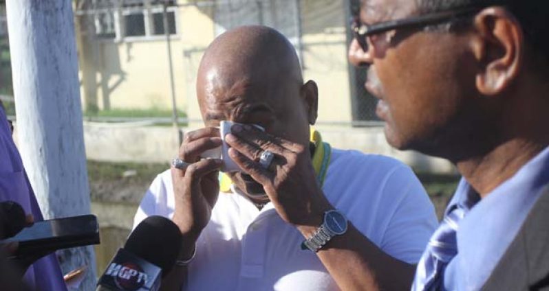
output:
[[[402,19],[416,14],[416,0],[361,0],[360,19],[377,23]]]

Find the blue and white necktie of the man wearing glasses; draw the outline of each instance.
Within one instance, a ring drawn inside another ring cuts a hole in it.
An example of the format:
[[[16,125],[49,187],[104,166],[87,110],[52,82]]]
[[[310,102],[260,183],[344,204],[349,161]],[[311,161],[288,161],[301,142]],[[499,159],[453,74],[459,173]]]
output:
[[[427,245],[427,251],[418,263],[413,291],[444,289],[444,269],[458,253],[455,233],[464,215],[464,209],[455,207],[444,216],[444,220],[440,222]]]

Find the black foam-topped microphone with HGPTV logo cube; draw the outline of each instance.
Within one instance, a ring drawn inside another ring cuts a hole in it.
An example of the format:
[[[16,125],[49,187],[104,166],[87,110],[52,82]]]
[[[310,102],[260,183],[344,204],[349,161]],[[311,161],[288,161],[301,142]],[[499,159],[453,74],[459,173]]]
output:
[[[160,288],[177,259],[180,229],[162,216],[149,216],[131,232],[124,248],[111,260],[98,281],[98,290],[153,290]]]

